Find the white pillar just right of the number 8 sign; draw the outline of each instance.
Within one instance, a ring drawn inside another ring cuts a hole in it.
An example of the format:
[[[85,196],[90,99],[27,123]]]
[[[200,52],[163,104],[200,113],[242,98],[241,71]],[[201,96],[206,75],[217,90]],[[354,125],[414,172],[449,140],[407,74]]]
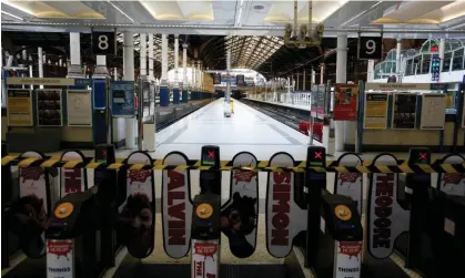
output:
[[[130,31],[123,32],[123,80],[134,81],[134,33]],[[135,119],[125,117],[125,146],[135,147]]]

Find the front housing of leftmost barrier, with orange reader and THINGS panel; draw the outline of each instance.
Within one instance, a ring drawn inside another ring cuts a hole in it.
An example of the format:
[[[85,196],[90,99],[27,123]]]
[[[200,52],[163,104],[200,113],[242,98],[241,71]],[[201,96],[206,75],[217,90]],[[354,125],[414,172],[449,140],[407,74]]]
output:
[[[48,278],[98,277],[103,270],[97,244],[97,191],[71,193],[55,204],[46,230]]]

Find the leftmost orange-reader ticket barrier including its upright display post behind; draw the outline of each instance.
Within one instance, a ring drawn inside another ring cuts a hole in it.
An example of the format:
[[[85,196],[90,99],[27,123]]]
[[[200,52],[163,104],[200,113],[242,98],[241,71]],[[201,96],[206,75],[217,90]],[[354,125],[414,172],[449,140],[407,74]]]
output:
[[[107,165],[114,163],[114,147],[98,145],[95,161]],[[27,259],[4,277],[81,277],[81,274],[98,277],[114,266],[115,253],[121,246],[113,217],[121,202],[120,177],[117,171],[97,168],[93,187],[58,200],[49,209],[44,229],[47,262],[43,257]]]

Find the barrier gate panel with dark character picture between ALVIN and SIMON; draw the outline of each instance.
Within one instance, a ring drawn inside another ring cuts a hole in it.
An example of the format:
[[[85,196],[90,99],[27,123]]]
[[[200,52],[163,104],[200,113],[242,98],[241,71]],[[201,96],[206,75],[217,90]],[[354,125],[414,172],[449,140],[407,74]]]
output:
[[[253,154],[242,152],[234,156],[233,166],[255,167]],[[221,231],[230,240],[231,253],[237,258],[250,257],[256,248],[259,220],[259,173],[232,171],[230,199],[221,209]]]

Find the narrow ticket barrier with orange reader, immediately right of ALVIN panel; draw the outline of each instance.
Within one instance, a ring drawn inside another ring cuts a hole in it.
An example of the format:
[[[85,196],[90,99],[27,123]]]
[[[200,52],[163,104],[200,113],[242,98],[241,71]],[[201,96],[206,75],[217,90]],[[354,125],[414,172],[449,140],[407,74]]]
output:
[[[201,192],[193,199],[192,215],[192,278],[216,278],[220,272],[220,209],[221,171],[220,148],[203,146],[200,172]]]

